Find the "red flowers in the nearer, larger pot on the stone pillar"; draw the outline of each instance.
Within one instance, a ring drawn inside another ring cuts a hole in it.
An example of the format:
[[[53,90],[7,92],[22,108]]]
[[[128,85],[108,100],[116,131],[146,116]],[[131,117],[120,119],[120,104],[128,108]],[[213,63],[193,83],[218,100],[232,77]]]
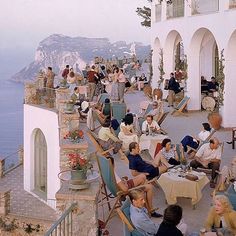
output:
[[[68,164],[72,170],[87,170],[92,168],[90,161],[82,157],[79,153],[69,153],[68,160]]]

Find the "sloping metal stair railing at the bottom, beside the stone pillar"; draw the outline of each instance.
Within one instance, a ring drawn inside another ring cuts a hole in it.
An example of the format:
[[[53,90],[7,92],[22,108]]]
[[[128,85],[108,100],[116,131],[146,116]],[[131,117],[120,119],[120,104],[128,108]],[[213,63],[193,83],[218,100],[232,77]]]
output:
[[[61,217],[46,232],[45,236],[73,236],[73,210],[77,207],[76,203],[61,215]]]

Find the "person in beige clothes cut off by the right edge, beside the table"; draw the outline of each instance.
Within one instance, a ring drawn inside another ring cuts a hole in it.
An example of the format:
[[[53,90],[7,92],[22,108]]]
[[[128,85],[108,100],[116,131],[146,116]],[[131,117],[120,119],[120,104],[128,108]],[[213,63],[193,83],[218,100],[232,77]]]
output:
[[[225,182],[229,184],[230,181],[236,181],[236,157],[231,161],[230,167],[224,166],[220,171],[219,183],[216,186],[217,190],[225,190]]]

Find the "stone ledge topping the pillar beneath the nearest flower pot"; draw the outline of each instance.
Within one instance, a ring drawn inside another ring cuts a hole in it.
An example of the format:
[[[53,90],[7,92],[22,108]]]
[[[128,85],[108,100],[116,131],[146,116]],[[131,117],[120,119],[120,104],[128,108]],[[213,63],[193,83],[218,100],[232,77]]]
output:
[[[56,199],[58,200],[85,200],[96,201],[100,189],[99,181],[95,181],[90,184],[88,189],[84,190],[71,190],[69,189],[69,183],[62,183],[61,188],[56,193]]]

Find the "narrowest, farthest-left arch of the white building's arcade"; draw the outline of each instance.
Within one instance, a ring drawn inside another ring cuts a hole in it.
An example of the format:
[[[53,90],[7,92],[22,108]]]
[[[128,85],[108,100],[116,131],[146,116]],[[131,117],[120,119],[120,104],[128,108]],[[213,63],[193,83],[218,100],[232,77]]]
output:
[[[160,72],[158,69],[160,63],[160,49],[161,44],[159,38],[156,38],[153,45],[153,56],[152,56],[152,68],[153,68],[153,77],[152,77],[152,88],[157,88],[158,80],[160,78]]]

